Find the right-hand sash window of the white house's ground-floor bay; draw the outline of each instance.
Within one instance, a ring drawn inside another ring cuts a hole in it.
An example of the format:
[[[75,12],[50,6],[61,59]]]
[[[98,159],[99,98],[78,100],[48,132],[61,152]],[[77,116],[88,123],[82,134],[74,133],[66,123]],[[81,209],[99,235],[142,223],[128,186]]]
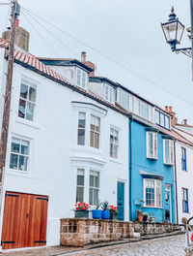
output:
[[[98,205],[99,196],[99,173],[95,171],[90,171],[89,179],[89,204],[92,206]]]

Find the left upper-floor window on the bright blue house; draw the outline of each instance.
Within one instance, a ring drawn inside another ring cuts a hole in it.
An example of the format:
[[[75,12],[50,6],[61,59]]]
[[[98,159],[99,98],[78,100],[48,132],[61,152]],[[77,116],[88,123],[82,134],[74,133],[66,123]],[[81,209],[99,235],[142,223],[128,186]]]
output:
[[[154,132],[147,132],[147,157],[157,158],[157,134]]]

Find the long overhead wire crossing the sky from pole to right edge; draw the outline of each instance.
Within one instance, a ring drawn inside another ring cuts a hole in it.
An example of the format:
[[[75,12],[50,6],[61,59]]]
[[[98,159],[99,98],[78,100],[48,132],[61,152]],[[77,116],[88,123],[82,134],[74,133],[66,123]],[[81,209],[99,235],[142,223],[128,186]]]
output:
[[[26,12],[28,12],[28,14],[31,14],[31,15],[33,15],[33,16],[37,16],[37,15],[34,14],[33,12],[27,10],[26,8],[24,8],[24,7],[21,7],[21,8],[22,8],[23,10],[25,10]],[[71,38],[71,39],[75,40],[76,42],[78,42],[78,43],[80,43],[80,44],[86,46],[87,48],[91,48],[91,49],[92,49],[93,51],[95,51],[96,53],[102,55],[103,57],[105,57],[106,59],[110,60],[111,62],[116,63],[118,66],[120,66],[121,68],[123,68],[125,71],[127,71],[127,72],[129,72],[129,73],[132,73],[133,75],[135,75],[135,76],[141,78],[142,80],[146,80],[146,81],[148,81],[149,83],[152,83],[152,85],[156,86],[157,88],[162,89],[163,91],[166,91],[166,92],[170,93],[171,95],[177,97],[179,100],[181,100],[181,101],[187,103],[188,105],[193,106],[193,104],[192,104],[191,102],[189,102],[189,101],[185,100],[184,98],[180,97],[177,93],[174,93],[173,91],[164,88],[164,87],[161,86],[160,84],[157,84],[155,81],[150,80],[149,78],[146,78],[145,76],[139,74],[138,72],[135,72],[135,71],[129,69],[128,67],[124,66],[122,63],[120,63],[120,62],[118,62],[117,60],[115,60],[115,59],[109,57],[108,55],[106,55],[106,54],[104,54],[104,53],[102,53],[100,50],[97,50],[96,48],[93,48],[93,47],[89,46],[87,43],[85,43],[85,42],[83,42],[83,41],[81,41],[81,40],[75,38],[74,36],[72,36],[72,35],[69,34],[68,32],[62,30],[61,28],[57,27],[56,25],[52,24],[51,22],[45,20],[45,19],[42,18],[41,16],[37,16],[37,17],[40,18],[40,19],[41,19],[42,21],[44,21],[45,23],[47,23],[48,25],[54,27],[54,28],[57,29],[58,31],[60,31],[60,32],[62,32],[63,34],[67,35],[69,38]]]

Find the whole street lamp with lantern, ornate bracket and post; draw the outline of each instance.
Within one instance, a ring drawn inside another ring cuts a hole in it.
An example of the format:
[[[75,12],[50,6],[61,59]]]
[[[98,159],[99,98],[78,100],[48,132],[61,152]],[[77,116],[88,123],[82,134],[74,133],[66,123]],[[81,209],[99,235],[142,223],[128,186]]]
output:
[[[171,46],[172,51],[176,53],[183,53],[186,56],[192,58],[192,80],[193,80],[193,0],[190,0],[190,24],[191,29],[187,29],[190,32],[188,35],[191,40],[191,48],[177,48],[177,45],[180,44],[184,25],[179,21],[179,18],[176,16],[174,12],[174,7],[172,7],[171,14],[169,16],[169,20],[165,23],[161,23],[161,27],[166,39],[166,43]]]

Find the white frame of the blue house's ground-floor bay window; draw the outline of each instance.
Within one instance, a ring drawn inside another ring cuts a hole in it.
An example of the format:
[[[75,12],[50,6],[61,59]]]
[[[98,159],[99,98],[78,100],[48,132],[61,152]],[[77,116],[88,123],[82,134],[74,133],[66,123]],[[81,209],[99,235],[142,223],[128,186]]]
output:
[[[154,182],[154,206],[147,205],[146,202],[146,181]],[[157,205],[157,188],[160,188],[160,206]],[[162,208],[162,181],[160,179],[144,178],[144,207],[146,208]]]

